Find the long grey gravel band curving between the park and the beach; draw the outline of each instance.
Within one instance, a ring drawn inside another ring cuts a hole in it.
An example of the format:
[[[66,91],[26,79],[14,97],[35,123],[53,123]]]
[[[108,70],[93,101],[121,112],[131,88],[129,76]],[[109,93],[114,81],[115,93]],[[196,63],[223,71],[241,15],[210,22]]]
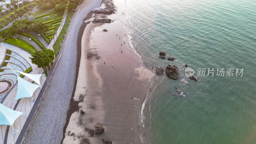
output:
[[[100,3],[100,0],[87,0],[74,14],[68,28],[68,36],[64,39],[64,44],[53,64],[51,69],[53,74],[25,137],[25,143],[56,144],[61,142],[69,103],[74,90],[77,36],[78,33],[83,33],[83,31],[79,31],[79,28],[87,13],[99,7]],[[58,59],[59,57],[60,59]]]

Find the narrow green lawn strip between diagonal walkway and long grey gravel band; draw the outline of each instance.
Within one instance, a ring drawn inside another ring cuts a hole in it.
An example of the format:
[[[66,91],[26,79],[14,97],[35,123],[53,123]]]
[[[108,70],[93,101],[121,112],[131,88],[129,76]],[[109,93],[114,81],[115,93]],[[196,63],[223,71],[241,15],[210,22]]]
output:
[[[62,40],[64,40],[64,35],[66,35],[66,29],[68,29],[68,23],[70,22],[70,19],[69,18],[72,18],[73,16],[73,13],[74,11],[72,12],[68,12],[68,16],[67,16],[67,19],[66,19],[66,24],[64,25],[64,27],[62,28],[61,32],[60,32],[60,35],[58,36],[57,40],[55,41],[55,44],[53,44],[52,48],[53,48],[53,51],[55,53],[55,56],[58,55],[59,53],[59,50],[60,50],[60,43],[63,43]],[[59,28],[60,25],[58,25],[58,28]],[[57,27],[57,26],[56,26]],[[63,37],[60,37],[61,34],[63,35]]]

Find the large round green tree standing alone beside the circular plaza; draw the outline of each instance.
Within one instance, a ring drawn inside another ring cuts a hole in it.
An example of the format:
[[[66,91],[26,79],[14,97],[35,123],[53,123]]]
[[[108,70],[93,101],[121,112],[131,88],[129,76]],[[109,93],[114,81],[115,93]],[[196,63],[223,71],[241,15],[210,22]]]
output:
[[[36,64],[38,68],[43,68],[45,75],[47,75],[46,67],[54,60],[54,52],[51,49],[44,49],[43,51],[35,52],[32,57],[29,58],[32,63]]]

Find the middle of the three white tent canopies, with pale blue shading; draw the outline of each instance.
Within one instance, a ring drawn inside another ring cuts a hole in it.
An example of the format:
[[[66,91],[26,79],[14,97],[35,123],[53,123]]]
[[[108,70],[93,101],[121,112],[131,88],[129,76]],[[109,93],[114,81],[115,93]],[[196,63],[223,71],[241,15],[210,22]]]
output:
[[[17,76],[18,79],[18,90],[14,100],[19,100],[21,98],[32,97],[33,93],[39,87],[37,84],[29,83],[20,76]]]

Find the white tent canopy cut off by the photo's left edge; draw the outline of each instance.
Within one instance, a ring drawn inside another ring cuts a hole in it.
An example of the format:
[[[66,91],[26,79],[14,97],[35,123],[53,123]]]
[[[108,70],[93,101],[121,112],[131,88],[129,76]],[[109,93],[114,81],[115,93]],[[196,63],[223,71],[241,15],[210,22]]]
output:
[[[12,125],[22,114],[22,112],[7,108],[0,103],[0,125]]]

